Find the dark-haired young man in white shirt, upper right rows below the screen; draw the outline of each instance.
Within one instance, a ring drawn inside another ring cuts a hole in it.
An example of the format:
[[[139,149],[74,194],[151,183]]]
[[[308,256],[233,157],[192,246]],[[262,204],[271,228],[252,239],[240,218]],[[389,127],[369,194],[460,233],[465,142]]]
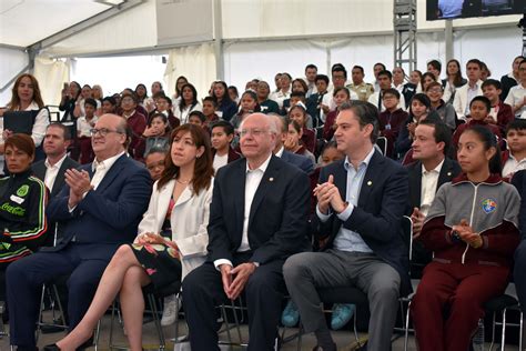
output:
[[[477,59],[472,59],[466,63],[467,83],[456,89],[455,99],[453,100],[456,117],[461,120],[466,120],[469,114],[469,104],[473,98],[483,94],[481,69],[482,62]]]

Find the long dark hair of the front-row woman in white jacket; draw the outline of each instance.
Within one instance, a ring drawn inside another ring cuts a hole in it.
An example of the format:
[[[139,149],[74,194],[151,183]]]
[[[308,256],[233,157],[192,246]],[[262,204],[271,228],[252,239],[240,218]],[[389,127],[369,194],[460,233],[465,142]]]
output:
[[[178,134],[190,132],[192,140],[195,147],[199,149],[204,147],[203,154],[195,160],[195,164],[193,168],[193,179],[192,179],[192,188],[195,194],[202,189],[209,189],[210,184],[212,183],[212,177],[214,176],[213,169],[213,159],[210,146],[210,137],[205,134],[205,131],[194,124],[182,124],[175,128],[170,136],[170,149],[173,147],[173,139]],[[164,159],[164,171],[159,179],[158,189],[164,187],[170,180],[175,179],[179,174],[179,167],[173,164],[172,161],[172,152],[166,154]]]

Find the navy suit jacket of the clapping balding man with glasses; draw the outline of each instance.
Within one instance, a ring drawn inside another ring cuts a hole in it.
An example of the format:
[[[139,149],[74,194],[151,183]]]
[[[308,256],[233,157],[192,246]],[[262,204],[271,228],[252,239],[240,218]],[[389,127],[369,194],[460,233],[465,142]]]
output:
[[[91,163],[80,169],[92,177]],[[48,218],[64,222],[65,229],[62,240],[48,251],[60,251],[74,237],[75,243],[100,244],[100,249],[87,253],[89,259],[109,260],[120,244],[132,242],[136,237],[152,187],[146,169],[123,154],[97,190],[89,191],[73,212],[68,208],[69,192],[70,188],[65,184],[49,202]]]

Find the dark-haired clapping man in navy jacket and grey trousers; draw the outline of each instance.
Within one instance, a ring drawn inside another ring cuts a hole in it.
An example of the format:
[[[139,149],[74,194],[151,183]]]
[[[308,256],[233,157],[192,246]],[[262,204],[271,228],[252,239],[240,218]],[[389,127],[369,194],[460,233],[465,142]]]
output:
[[[322,169],[317,197],[317,238],[323,252],[291,257],[283,267],[289,293],[315,350],[336,350],[316,289],[356,287],[368,297],[367,350],[390,350],[399,294],[411,291],[408,250],[402,217],[407,171],[376,151],[378,111],[363,101],[340,107],[334,137],[345,159]]]

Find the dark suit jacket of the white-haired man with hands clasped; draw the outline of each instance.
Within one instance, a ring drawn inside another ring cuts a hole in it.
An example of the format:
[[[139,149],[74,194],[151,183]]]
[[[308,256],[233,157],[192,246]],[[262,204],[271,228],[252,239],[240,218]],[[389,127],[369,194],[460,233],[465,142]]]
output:
[[[246,159],[219,169],[209,220],[209,255],[231,262],[241,244],[244,218]],[[252,201],[249,219],[250,261],[265,264],[285,260],[308,247],[308,177],[272,156]]]

